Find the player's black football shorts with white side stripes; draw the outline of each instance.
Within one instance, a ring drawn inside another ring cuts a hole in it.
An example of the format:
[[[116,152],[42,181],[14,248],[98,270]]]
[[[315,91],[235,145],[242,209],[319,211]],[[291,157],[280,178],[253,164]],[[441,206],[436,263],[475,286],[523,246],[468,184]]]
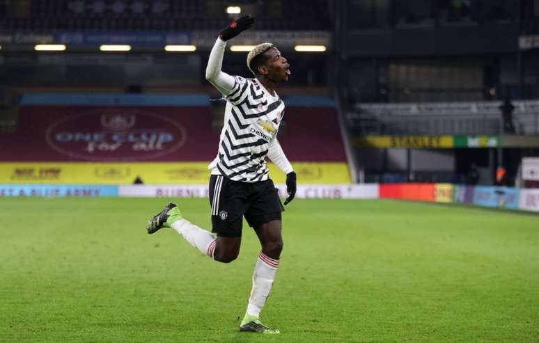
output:
[[[284,207],[272,180],[239,182],[222,175],[210,177],[212,232],[217,236],[241,237],[243,216],[251,228],[281,220]]]

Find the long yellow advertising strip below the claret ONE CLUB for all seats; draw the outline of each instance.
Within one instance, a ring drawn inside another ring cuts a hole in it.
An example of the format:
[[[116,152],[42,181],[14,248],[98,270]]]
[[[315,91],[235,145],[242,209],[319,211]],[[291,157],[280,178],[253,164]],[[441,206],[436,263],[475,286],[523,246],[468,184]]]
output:
[[[166,163],[0,163],[0,184],[205,184],[210,162]],[[270,177],[284,183],[285,175],[269,163]],[[292,163],[300,184],[349,184],[346,163]]]

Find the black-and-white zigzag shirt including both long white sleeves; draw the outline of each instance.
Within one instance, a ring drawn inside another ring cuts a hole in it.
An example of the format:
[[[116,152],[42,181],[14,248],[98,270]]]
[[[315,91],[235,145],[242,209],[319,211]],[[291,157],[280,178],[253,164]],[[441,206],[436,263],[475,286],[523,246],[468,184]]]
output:
[[[277,141],[284,104],[256,79],[233,77],[221,70],[226,42],[217,38],[210,52],[206,79],[226,99],[219,153],[208,168],[241,182],[268,179],[266,156],[283,171],[294,171]]]

